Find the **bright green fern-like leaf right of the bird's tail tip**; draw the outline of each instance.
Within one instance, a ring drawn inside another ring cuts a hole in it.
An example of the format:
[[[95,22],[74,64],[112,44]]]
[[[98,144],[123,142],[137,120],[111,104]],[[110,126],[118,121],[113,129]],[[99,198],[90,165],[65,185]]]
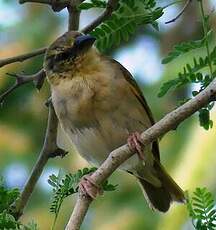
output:
[[[216,229],[215,203],[213,195],[206,188],[197,188],[192,198],[188,197],[187,209],[195,229]]]

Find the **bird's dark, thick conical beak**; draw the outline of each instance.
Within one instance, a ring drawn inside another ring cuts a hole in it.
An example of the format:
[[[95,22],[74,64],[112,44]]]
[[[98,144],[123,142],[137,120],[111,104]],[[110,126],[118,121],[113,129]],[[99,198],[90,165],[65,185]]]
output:
[[[78,48],[78,50],[89,49],[95,40],[96,38],[91,35],[81,35],[75,39],[74,47]]]

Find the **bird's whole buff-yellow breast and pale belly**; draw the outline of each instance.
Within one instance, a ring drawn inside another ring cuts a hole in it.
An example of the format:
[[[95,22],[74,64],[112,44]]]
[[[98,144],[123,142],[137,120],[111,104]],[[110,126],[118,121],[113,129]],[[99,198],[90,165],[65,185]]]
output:
[[[112,76],[112,70],[107,73],[77,76],[52,88],[61,126],[79,153],[95,165],[125,144],[131,132],[149,126],[125,80]],[[137,162],[137,157],[133,157],[126,165],[135,167]]]

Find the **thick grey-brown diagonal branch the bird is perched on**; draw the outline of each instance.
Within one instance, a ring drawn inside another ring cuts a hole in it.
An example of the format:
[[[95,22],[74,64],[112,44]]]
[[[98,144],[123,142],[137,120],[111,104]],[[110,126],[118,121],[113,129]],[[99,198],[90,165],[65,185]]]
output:
[[[184,105],[167,114],[164,118],[154,124],[141,134],[144,146],[150,144],[168,131],[176,128],[182,121],[197,112],[203,106],[216,100],[216,79],[199,93],[196,97],[186,102]],[[103,164],[91,175],[91,180],[96,184],[105,181],[124,161],[130,158],[134,153],[130,152],[128,145],[112,151]],[[79,230],[88,211],[92,199],[79,191],[78,200],[74,211],[66,226],[66,230]]]

